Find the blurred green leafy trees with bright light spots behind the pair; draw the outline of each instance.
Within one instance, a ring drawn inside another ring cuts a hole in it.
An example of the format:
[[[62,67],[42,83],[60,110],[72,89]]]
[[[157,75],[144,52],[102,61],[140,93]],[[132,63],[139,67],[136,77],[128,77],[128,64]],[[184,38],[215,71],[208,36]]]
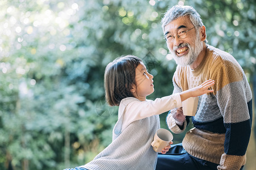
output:
[[[160,21],[178,3],[198,10],[208,44],[232,54],[253,84],[253,0],[1,0],[0,169],[76,167],[103,150],[118,110],[104,101],[103,75],[116,57],[143,59],[154,75],[149,99],[170,95],[176,64]]]

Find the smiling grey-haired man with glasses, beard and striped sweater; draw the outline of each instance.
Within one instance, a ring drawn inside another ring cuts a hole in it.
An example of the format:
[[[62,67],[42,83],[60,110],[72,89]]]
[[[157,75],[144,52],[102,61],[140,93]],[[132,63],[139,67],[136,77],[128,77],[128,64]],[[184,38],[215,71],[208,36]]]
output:
[[[174,6],[162,19],[170,53],[177,62],[173,94],[207,79],[215,80],[213,94],[199,97],[195,128],[182,144],[158,155],[156,169],[242,169],[251,133],[252,94],[244,71],[229,53],[207,44],[206,29],[191,6]],[[173,133],[182,133],[190,117],[182,108],[166,117]]]

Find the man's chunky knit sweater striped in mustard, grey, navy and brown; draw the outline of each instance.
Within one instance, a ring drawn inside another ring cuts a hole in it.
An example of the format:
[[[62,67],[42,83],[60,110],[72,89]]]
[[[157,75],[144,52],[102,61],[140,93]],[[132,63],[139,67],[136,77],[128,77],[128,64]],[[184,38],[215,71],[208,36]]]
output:
[[[236,59],[220,49],[207,45],[203,61],[195,69],[177,66],[173,77],[174,92],[188,90],[207,79],[215,80],[213,94],[199,97],[195,128],[183,139],[184,149],[200,159],[220,164],[218,169],[240,169],[246,162],[252,120],[252,94],[244,71]],[[184,127],[189,118],[186,118]],[[167,125],[182,133],[168,114]]]

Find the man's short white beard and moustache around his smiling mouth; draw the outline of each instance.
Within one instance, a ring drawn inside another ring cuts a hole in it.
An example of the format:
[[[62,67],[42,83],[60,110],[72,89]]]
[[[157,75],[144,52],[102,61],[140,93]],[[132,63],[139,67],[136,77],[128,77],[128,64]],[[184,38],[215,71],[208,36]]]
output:
[[[179,57],[179,56],[177,56],[175,49],[181,48],[183,46],[187,46],[189,49],[189,52],[186,55]],[[188,43],[185,43],[185,44],[181,44],[181,45],[177,46],[177,48],[170,50],[170,53],[173,56],[173,59],[175,60],[177,65],[181,65],[181,66],[191,65],[193,62],[196,61],[200,52],[202,52],[203,41],[200,40],[199,35],[196,35],[196,41],[195,41],[194,47],[190,46],[190,44],[188,44]]]

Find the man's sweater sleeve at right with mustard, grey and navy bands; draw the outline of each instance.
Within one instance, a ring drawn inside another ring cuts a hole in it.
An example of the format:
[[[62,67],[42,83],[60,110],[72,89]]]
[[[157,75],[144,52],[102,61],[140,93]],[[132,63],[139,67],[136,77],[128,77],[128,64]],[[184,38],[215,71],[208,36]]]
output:
[[[227,56],[229,57],[229,56]],[[218,169],[240,169],[246,161],[251,132],[251,92],[242,68],[232,58],[215,63],[215,95],[226,129]]]

